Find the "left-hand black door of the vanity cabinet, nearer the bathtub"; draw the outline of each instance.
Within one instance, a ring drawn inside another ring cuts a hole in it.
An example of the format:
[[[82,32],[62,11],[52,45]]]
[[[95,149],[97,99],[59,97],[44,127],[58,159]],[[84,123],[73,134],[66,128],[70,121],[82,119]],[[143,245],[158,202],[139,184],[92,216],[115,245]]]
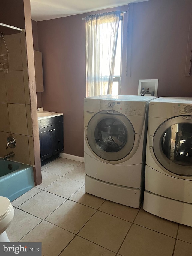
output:
[[[41,128],[41,161],[52,156],[52,126]]]

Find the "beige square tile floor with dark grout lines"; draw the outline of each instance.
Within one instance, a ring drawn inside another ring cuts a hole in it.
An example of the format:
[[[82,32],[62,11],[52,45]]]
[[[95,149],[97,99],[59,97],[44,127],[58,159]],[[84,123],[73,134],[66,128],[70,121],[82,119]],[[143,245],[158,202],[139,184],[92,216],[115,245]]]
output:
[[[192,255],[192,227],[85,193],[83,163],[58,158],[42,177],[12,202],[11,242],[42,242],[44,256]]]

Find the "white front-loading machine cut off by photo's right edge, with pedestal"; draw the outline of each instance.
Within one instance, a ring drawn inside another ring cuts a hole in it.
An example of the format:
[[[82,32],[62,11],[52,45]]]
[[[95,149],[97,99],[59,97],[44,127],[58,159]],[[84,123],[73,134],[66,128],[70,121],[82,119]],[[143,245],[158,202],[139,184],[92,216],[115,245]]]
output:
[[[143,209],[192,226],[192,98],[149,103]]]

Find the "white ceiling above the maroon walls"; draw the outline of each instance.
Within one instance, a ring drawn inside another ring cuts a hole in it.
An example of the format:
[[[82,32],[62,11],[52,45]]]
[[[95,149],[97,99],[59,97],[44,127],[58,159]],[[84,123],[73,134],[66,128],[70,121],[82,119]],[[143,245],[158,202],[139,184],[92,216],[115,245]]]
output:
[[[31,0],[32,19],[50,20],[149,0]]]

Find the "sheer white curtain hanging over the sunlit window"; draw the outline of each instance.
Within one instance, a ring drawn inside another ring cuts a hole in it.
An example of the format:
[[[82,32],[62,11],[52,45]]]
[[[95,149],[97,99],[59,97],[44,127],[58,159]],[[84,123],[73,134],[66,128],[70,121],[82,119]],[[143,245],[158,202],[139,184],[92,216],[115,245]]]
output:
[[[121,11],[86,17],[87,97],[111,94]]]

